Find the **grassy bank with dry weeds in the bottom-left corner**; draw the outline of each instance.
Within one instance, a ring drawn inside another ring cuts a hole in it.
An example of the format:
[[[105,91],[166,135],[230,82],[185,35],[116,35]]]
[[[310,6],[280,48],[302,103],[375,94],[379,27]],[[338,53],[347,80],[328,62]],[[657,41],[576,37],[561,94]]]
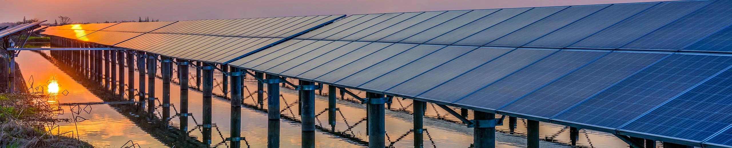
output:
[[[46,102],[49,96],[39,93],[0,94],[0,148],[92,147],[63,134],[45,131],[45,125],[67,122],[57,119]]]

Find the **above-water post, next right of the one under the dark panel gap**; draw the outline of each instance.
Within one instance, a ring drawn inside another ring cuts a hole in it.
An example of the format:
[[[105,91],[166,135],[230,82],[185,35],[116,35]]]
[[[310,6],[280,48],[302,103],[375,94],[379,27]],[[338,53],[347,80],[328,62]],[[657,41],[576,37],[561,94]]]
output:
[[[280,78],[267,74],[267,117],[280,120]]]

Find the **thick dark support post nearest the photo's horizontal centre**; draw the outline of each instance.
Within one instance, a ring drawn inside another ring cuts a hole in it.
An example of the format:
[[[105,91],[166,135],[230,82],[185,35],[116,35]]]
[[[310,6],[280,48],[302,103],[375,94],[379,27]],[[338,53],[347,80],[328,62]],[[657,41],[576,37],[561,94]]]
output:
[[[386,99],[384,95],[377,93],[366,93],[367,101],[367,123],[368,123],[368,147],[370,148],[382,148],[385,145],[384,137],[386,131],[384,130],[384,104]],[[381,99],[380,99],[381,98]]]

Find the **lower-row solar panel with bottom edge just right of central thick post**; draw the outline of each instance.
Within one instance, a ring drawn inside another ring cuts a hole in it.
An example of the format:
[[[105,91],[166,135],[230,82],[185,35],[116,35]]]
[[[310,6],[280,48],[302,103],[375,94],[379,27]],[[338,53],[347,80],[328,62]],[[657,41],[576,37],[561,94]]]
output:
[[[435,69],[419,74],[419,76],[409,79],[408,81],[386,90],[386,93],[395,93],[406,96],[417,96],[429,90],[432,87],[446,82],[447,80],[458,77],[471,69],[482,64],[493,61],[494,58],[504,55],[514,48],[494,48],[481,47],[472,52],[468,52],[463,56],[455,58]]]

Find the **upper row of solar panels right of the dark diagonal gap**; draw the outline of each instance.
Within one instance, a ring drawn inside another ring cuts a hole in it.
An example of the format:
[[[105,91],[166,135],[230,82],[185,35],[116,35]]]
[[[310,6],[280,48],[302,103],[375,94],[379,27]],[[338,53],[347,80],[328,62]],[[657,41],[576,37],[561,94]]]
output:
[[[296,39],[731,52],[720,48],[730,44],[730,7],[732,1],[668,1],[353,15]]]

